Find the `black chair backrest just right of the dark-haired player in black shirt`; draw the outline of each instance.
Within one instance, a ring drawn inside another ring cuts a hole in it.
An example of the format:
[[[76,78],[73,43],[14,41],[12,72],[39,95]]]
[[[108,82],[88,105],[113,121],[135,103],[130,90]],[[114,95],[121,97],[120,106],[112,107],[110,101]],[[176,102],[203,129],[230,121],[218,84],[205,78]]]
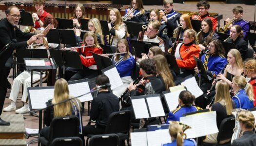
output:
[[[109,115],[105,133],[129,133],[131,111],[122,110]]]

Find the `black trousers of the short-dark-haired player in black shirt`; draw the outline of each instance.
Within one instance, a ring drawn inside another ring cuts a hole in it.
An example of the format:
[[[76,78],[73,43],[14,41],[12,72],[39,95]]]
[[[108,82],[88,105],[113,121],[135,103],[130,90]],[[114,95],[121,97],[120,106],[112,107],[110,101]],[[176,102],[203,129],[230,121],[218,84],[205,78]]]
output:
[[[83,127],[83,135],[86,136],[87,134],[104,134],[105,128],[98,127],[96,125],[87,125]]]

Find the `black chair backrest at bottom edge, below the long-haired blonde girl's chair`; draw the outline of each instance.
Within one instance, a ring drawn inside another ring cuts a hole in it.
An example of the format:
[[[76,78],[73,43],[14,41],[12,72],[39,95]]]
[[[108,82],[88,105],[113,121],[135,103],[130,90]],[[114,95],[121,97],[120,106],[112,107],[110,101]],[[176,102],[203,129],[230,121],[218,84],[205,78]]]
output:
[[[80,137],[61,137],[52,141],[51,146],[83,146]]]

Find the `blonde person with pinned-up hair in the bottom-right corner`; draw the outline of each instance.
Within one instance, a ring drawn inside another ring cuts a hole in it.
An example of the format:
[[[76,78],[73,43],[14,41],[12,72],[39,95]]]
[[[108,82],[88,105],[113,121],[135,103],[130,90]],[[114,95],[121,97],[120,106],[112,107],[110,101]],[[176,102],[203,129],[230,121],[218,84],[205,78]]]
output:
[[[237,119],[243,135],[234,140],[232,146],[256,146],[255,117],[251,111],[245,110],[238,113]],[[236,132],[236,130],[234,131]]]

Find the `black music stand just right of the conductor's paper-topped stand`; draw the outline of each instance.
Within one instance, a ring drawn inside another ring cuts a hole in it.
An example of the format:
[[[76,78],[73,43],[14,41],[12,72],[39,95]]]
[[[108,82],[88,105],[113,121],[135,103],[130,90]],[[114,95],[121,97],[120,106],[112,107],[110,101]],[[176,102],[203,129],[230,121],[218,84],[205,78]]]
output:
[[[59,73],[61,66],[63,67],[63,78],[65,78],[65,67],[72,67],[76,69],[82,69],[82,63],[78,52],[49,49],[51,57],[56,61],[59,66]]]

